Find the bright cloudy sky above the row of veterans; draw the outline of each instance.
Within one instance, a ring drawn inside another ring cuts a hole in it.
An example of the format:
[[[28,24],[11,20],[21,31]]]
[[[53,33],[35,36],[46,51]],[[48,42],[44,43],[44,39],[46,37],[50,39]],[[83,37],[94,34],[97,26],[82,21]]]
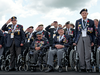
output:
[[[100,0],[0,0],[0,28],[12,16],[17,16],[24,29],[39,24],[46,27],[53,21],[75,24],[83,8],[88,9],[88,18],[100,19]]]

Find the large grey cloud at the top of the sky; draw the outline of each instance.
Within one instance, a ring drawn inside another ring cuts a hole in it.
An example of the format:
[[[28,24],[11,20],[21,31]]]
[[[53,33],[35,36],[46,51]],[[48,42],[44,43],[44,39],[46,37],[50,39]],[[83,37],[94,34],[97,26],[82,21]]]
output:
[[[55,8],[68,8],[71,11],[79,10],[91,2],[91,0],[30,0],[30,8],[41,12],[49,12]]]

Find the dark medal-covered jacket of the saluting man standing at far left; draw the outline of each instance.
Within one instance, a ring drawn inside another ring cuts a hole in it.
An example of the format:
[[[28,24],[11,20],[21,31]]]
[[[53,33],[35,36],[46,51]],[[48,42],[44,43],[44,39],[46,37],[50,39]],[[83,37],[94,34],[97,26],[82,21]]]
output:
[[[25,33],[23,31],[23,26],[22,25],[17,25],[16,30],[14,32],[14,39],[11,38],[11,33],[12,33],[12,24],[8,25],[4,24],[2,27],[2,30],[8,31],[8,37],[7,37],[7,47],[10,47],[12,45],[12,42],[14,40],[15,46],[20,47],[20,44],[24,44],[25,41]]]

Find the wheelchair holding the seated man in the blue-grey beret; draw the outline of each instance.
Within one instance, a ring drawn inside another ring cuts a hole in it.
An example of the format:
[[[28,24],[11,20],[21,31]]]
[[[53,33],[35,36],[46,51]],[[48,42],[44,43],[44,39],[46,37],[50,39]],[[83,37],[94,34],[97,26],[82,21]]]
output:
[[[37,63],[34,64],[33,63],[33,54],[32,52],[34,52],[32,49],[29,49],[28,50],[28,53],[26,55],[26,61],[25,61],[25,67],[24,67],[24,70],[25,71],[28,71],[28,70],[31,70],[31,71],[36,71],[36,67],[39,67],[39,70],[40,71],[43,71],[44,68],[46,67],[46,61],[45,61],[45,58],[46,58],[46,52],[47,52],[47,49],[48,48],[44,48],[43,50],[41,50],[39,53],[38,53],[38,60],[37,60]],[[31,54],[30,54],[31,52]]]

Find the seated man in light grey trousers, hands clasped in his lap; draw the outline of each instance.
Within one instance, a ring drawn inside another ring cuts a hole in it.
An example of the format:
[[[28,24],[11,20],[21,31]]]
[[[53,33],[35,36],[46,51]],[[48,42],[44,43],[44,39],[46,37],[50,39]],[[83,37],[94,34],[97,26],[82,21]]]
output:
[[[70,44],[70,36],[64,35],[63,28],[58,29],[59,36],[55,36],[53,40],[53,49],[48,52],[48,61],[47,64],[49,65],[48,70],[45,72],[53,71],[53,58],[54,55],[57,55],[57,65],[59,66],[59,72],[62,72],[62,58],[64,51],[67,50]]]

